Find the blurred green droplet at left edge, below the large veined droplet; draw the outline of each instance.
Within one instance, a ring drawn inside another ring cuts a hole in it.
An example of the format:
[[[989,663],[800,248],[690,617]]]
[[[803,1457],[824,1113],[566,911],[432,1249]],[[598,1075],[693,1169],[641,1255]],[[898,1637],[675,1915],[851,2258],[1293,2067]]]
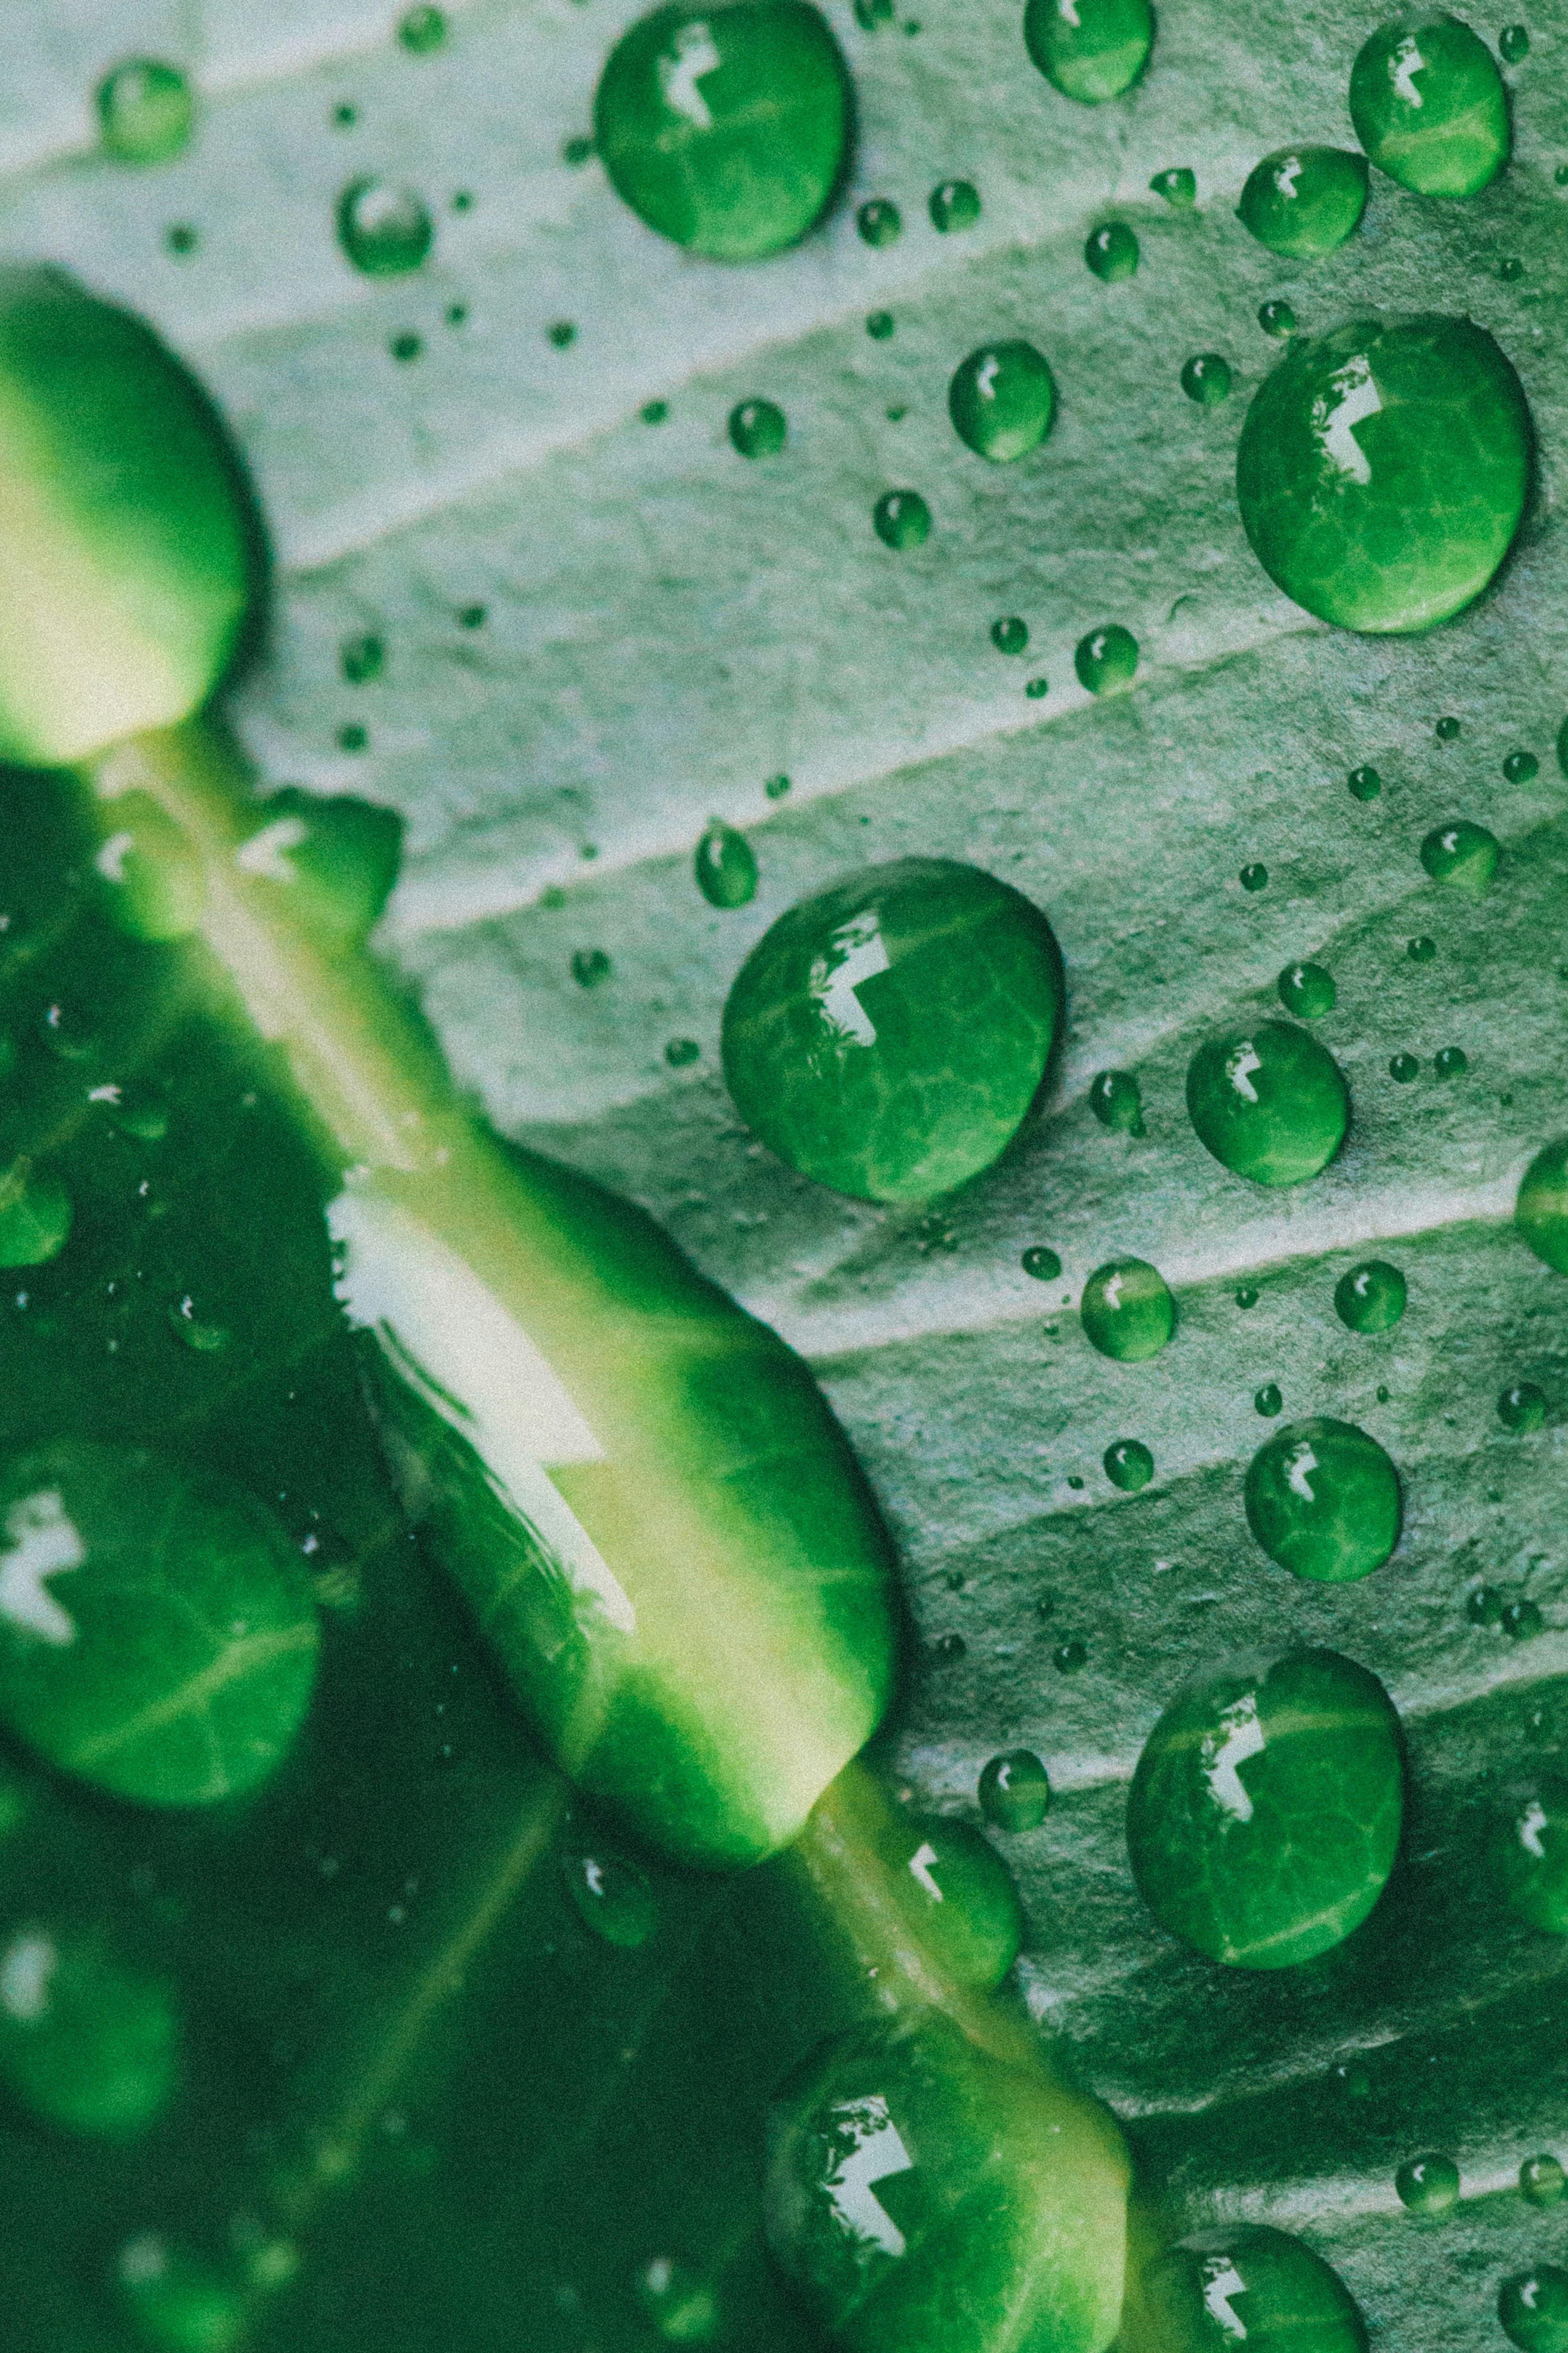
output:
[[[101,1937],[24,1925],[0,1948],[0,2075],[49,2125],[129,2139],[179,2080],[174,1991]]]

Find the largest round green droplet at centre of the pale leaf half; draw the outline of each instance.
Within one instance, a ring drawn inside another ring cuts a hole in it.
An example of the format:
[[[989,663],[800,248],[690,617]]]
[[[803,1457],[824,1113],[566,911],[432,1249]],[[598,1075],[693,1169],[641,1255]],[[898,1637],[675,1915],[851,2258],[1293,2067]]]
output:
[[[792,1169],[863,1200],[929,1200],[1006,1148],[1060,1009],[1037,906],[973,866],[900,859],[764,932],[724,1007],[724,1075]]]

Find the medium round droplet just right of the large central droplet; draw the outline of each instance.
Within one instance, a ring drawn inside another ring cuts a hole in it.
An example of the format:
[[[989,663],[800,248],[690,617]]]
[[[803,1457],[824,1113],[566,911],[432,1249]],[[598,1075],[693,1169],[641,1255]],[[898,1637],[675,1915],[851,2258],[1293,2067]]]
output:
[[[1213,1038],[1187,1064],[1187,1118],[1220,1167],[1253,1184],[1319,1176],[1349,1125],[1349,1092],[1333,1054],[1284,1021]]]

